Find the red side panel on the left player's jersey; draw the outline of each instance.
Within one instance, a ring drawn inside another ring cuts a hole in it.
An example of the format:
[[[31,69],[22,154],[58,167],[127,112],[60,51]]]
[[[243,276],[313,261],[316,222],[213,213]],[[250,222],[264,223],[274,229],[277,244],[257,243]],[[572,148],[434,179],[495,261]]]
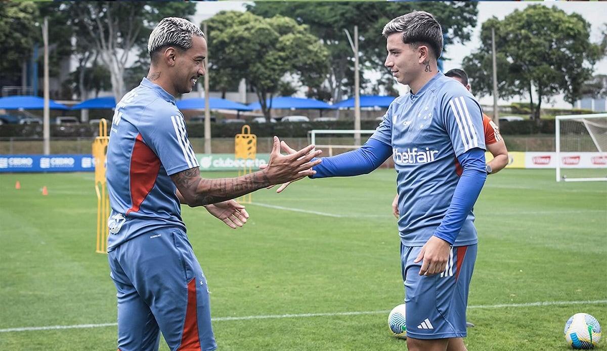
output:
[[[139,211],[139,206],[146,196],[154,188],[158,171],[160,171],[160,159],[154,154],[148,145],[143,142],[141,134],[135,138],[135,146],[131,156],[131,202],[132,207],[126,211],[128,216],[131,211]]]

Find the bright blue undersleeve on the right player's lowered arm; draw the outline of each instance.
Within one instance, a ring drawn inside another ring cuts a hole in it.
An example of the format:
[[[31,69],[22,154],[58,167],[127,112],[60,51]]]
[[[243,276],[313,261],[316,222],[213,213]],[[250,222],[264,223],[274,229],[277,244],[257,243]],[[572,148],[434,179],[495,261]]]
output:
[[[441,225],[434,232],[434,236],[449,242],[451,245],[455,242],[464,220],[472,211],[472,207],[487,179],[483,149],[470,149],[459,155],[458,161],[463,171],[459,177],[459,182],[455,186],[447,213]]]

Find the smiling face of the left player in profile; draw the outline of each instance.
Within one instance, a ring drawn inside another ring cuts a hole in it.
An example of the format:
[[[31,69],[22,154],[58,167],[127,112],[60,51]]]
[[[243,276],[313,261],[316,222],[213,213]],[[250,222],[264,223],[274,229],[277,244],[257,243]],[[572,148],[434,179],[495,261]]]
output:
[[[175,50],[172,69],[172,86],[178,94],[186,94],[194,89],[196,80],[206,74],[206,40],[202,36],[192,36],[192,47],[188,50]]]

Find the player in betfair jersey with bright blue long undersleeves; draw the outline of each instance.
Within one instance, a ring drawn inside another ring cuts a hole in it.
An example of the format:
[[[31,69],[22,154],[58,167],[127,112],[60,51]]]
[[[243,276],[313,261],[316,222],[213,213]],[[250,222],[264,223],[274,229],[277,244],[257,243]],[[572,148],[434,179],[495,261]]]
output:
[[[388,22],[382,35],[384,64],[410,92],[390,104],[361,148],[324,157],[311,177],[366,174],[392,156],[407,348],[463,351],[478,242],[472,207],[487,177],[483,112],[462,84],[437,70],[443,31],[434,16],[407,13]]]

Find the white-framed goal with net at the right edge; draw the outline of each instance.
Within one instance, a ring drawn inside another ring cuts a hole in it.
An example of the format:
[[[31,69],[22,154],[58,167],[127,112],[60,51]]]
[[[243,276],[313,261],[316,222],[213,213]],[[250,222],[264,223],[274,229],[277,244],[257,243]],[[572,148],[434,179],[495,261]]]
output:
[[[557,182],[607,180],[607,113],[557,116]]]

